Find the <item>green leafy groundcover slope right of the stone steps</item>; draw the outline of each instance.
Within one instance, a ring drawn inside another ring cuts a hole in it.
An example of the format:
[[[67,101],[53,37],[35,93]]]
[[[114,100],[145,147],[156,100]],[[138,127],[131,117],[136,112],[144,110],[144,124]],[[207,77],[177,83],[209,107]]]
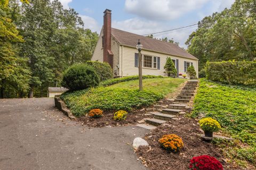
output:
[[[246,144],[236,150],[236,156],[255,165],[256,160],[256,90],[229,86],[201,79],[191,116],[213,117],[222,130]],[[254,160],[254,161],[253,161]]]

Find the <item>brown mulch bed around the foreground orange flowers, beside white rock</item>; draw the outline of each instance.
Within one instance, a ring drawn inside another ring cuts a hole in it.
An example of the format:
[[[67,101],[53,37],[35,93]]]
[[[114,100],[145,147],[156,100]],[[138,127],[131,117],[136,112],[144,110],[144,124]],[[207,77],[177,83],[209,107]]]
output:
[[[188,169],[189,160],[195,156],[210,155],[217,158],[224,169],[241,169],[229,165],[224,161],[222,152],[212,143],[204,142],[197,134],[203,132],[199,129],[196,120],[182,118],[181,120],[171,120],[168,125],[159,126],[146,134],[145,140],[149,146],[141,146],[136,151],[142,163],[152,170],[162,169]],[[177,134],[184,143],[184,148],[179,153],[167,152],[158,143],[165,134]]]

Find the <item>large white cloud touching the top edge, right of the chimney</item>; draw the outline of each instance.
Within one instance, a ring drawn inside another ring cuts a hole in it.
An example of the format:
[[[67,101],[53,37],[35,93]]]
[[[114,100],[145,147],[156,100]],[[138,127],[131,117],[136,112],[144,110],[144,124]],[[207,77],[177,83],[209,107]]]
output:
[[[172,20],[201,8],[206,2],[209,0],[126,0],[125,10],[150,20]]]

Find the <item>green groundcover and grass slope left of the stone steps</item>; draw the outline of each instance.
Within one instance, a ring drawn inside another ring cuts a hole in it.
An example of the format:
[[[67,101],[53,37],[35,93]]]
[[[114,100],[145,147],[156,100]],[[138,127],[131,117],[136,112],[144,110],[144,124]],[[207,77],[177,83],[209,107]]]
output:
[[[107,87],[66,92],[61,99],[75,116],[82,116],[91,109],[104,111],[126,110],[147,107],[175,91],[185,79],[153,78],[143,79],[143,91],[138,90],[138,80],[123,82]]]

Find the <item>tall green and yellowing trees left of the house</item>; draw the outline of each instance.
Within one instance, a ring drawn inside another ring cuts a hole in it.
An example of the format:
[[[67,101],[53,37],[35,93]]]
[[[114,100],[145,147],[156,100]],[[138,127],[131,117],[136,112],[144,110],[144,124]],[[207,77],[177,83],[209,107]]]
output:
[[[1,97],[46,96],[65,69],[91,59],[98,34],[58,0],[20,2],[0,1]]]

